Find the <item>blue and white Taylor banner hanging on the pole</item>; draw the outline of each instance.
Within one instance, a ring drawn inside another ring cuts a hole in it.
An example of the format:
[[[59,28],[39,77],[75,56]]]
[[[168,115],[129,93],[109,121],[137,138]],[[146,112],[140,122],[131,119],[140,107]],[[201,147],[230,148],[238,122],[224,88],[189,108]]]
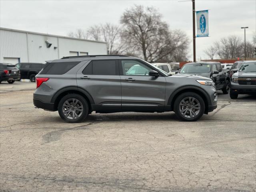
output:
[[[209,36],[208,10],[196,11],[196,37]]]

